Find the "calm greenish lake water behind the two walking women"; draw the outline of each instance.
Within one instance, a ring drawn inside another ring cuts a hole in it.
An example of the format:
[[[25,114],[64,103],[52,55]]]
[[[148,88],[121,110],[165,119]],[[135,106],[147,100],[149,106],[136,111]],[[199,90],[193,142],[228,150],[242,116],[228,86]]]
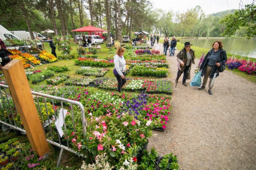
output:
[[[211,49],[212,44],[216,40],[221,40],[223,43],[223,49],[227,53],[237,54],[245,57],[256,58],[256,38],[224,38],[224,39],[197,39],[197,38],[186,38],[181,39],[180,42],[183,44],[187,41],[197,47],[205,49]]]

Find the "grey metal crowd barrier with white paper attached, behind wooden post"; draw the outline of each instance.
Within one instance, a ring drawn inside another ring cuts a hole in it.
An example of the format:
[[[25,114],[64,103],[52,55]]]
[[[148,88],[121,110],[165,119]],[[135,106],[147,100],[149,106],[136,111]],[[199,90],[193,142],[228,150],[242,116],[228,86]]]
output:
[[[0,124],[9,126],[10,128],[12,128],[14,130],[19,130],[23,133],[26,133],[26,131],[24,130],[22,125],[20,123],[16,122],[15,117],[17,117],[18,112],[17,112],[16,106],[15,106],[15,104],[14,104],[12,98],[11,98],[10,93],[8,93],[8,91],[9,91],[9,90],[7,90],[8,88],[9,87],[7,85],[0,84],[0,108],[3,111],[3,113],[0,113],[0,114],[3,114],[2,115],[3,118],[0,115]],[[74,110],[73,110],[74,106],[73,105],[77,105],[80,108],[80,111],[81,111],[81,118],[82,118],[82,125],[83,125],[83,137],[85,137],[86,126],[87,126],[87,122],[85,121],[84,106],[83,106],[83,104],[81,104],[80,102],[75,101],[75,100],[69,100],[69,99],[65,99],[65,98],[61,98],[61,97],[51,96],[51,95],[47,95],[47,94],[43,94],[43,93],[38,93],[38,92],[35,92],[35,91],[31,91],[31,92],[32,92],[32,95],[34,97],[34,103],[38,107],[39,118],[41,120],[41,124],[43,126],[43,130],[44,130],[44,133],[45,133],[46,137],[47,137],[47,134],[46,134],[47,129],[50,130],[50,137],[47,138],[47,142],[56,146],[56,147],[61,148],[61,151],[60,151],[60,154],[59,154],[59,157],[58,157],[58,162],[57,162],[57,167],[58,167],[60,165],[61,158],[62,158],[62,153],[63,153],[64,150],[69,151],[69,152],[74,153],[74,154],[77,154],[77,152],[74,151],[72,148],[70,148],[68,138],[66,138],[67,146],[65,146],[61,143],[61,137],[60,137],[59,133],[57,133],[58,134],[58,142],[54,141],[53,131],[52,131],[52,128],[51,128],[51,125],[50,125],[52,123],[52,120],[51,120],[51,117],[49,117],[49,114],[48,114],[46,100],[47,99],[51,100],[51,104],[52,104],[53,111],[54,111],[55,121],[56,121],[56,118],[57,118],[56,111],[55,111],[55,106],[56,106],[55,102],[56,101],[60,102],[60,106],[62,108],[63,118],[64,118],[63,103],[70,104],[70,107],[69,107],[70,109],[69,110],[71,110],[72,125],[73,125],[72,129],[74,130],[74,132],[76,132],[76,129],[75,129],[75,122],[74,122]],[[40,104],[39,104],[39,98],[40,97],[43,97],[44,107],[40,106]],[[45,111],[46,111],[47,120],[43,120],[43,117],[42,117],[42,110],[43,109],[45,109]],[[7,115],[7,116],[5,116],[5,115]],[[61,113],[59,114],[59,117],[60,116],[61,116]],[[46,123],[43,124],[43,121],[45,121]],[[64,119],[64,134],[67,134],[67,127],[66,127],[65,119]],[[79,154],[79,156],[85,157],[83,154]]]

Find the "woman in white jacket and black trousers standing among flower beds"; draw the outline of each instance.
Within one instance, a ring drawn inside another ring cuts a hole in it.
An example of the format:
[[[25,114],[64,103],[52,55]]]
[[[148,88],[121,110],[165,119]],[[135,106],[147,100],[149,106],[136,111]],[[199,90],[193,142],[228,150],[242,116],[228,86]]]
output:
[[[124,77],[124,72],[126,68],[126,62],[123,57],[125,49],[123,47],[119,47],[116,50],[116,55],[114,56],[114,64],[115,68],[113,70],[113,73],[117,79],[117,91],[121,92],[121,88],[124,86],[126,83],[126,79]]]

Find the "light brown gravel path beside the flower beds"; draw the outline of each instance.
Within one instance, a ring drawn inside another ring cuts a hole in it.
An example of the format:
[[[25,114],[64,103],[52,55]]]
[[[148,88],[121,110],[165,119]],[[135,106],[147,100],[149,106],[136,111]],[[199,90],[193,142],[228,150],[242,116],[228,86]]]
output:
[[[215,79],[213,95],[208,88],[183,86],[183,74],[175,88],[176,58],[167,56],[174,89],[171,119],[164,132],[153,131],[148,148],[174,153],[182,170],[256,169],[256,84],[225,70]]]

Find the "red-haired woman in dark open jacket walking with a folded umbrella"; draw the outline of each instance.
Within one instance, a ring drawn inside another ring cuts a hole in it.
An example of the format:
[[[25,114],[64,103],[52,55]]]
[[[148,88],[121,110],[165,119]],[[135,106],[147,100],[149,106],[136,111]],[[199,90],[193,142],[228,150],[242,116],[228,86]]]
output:
[[[202,77],[204,76],[204,81],[202,86],[198,88],[199,90],[204,89],[208,81],[208,78],[210,78],[209,90],[208,90],[210,95],[213,94],[212,93],[213,85],[211,87],[211,83],[212,83],[214,73],[217,73],[216,77],[218,77],[219,75],[218,67],[224,65],[227,62],[227,53],[225,50],[222,49],[223,47],[222,42],[215,41],[212,47],[213,48],[210,49],[206,54],[206,56],[204,57],[204,61],[202,62],[199,68],[201,70],[201,76]]]

